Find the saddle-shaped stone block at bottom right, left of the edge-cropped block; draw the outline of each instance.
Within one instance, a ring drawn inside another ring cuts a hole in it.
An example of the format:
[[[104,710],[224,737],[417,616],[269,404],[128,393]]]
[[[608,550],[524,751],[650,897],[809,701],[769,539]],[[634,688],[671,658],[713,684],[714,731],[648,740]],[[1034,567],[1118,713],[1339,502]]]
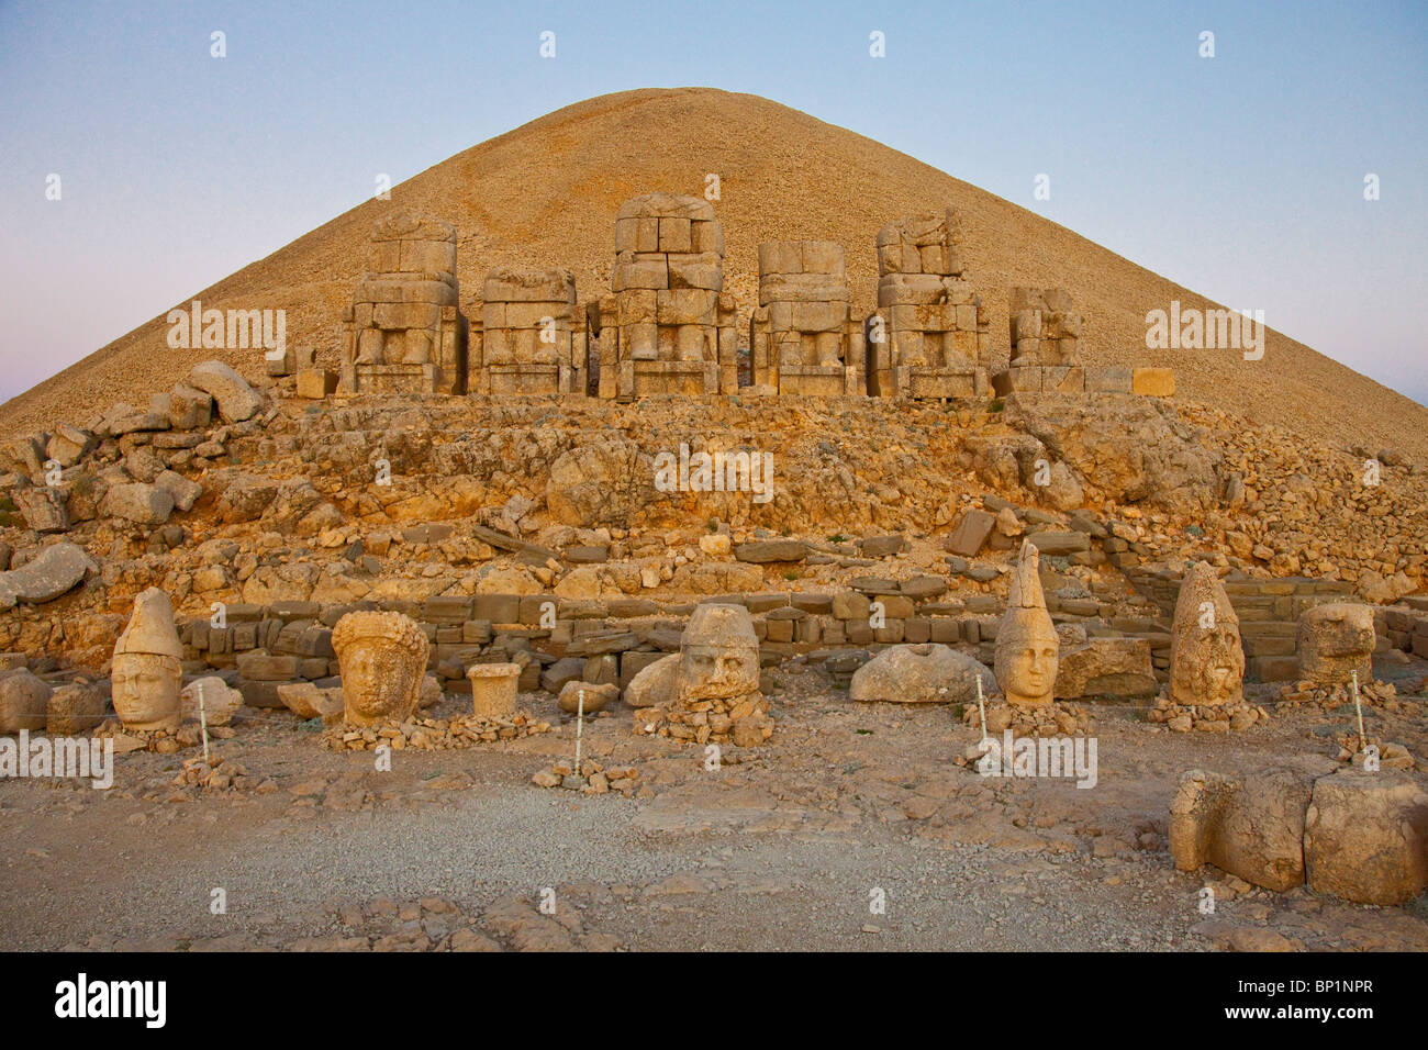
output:
[[[1299,886],[1309,793],[1309,777],[1292,769],[1242,779],[1187,770],[1170,807],[1175,867],[1214,864],[1267,890]]]

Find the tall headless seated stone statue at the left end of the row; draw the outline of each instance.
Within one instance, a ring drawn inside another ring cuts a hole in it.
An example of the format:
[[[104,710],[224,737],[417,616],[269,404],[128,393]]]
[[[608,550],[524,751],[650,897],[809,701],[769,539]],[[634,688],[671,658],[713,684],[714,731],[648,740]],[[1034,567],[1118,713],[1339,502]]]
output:
[[[456,230],[411,211],[380,220],[343,327],[340,393],[464,393]]]

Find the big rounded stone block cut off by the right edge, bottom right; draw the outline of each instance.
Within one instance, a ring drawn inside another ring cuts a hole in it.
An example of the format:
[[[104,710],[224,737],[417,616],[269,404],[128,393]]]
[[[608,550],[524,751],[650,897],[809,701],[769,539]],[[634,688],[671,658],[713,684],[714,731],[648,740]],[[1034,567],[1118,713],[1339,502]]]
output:
[[[1309,889],[1402,904],[1428,889],[1428,793],[1409,774],[1345,769],[1314,781],[1304,824]]]

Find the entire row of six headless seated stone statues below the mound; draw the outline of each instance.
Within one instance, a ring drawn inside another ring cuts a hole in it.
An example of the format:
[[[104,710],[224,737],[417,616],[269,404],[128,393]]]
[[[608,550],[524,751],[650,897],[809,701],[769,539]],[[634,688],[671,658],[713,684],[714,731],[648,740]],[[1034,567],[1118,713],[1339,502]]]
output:
[[[883,227],[878,307],[867,317],[854,313],[841,244],[760,244],[751,386],[811,396],[988,396],[990,310],[965,279],[960,244],[952,209]],[[497,267],[483,289],[481,323],[468,326],[454,229],[398,211],[377,223],[368,273],[344,309],[337,389],[734,393],[735,304],[723,290],[723,254],[708,201],[645,194],[615,217],[610,294],[580,310],[568,270]],[[1017,287],[1008,306],[1014,367],[1078,364],[1081,317],[1064,290]],[[326,379],[300,386],[307,396],[331,393]],[[1038,394],[1085,389],[1080,374],[1047,384],[1030,371],[1014,386]]]

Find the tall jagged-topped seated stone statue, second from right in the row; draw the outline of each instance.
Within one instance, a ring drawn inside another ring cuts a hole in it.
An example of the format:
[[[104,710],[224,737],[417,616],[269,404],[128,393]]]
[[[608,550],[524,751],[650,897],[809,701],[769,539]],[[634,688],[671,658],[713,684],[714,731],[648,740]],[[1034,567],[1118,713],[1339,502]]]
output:
[[[878,309],[868,319],[868,393],[985,397],[990,310],[965,279],[957,213],[878,231]]]

